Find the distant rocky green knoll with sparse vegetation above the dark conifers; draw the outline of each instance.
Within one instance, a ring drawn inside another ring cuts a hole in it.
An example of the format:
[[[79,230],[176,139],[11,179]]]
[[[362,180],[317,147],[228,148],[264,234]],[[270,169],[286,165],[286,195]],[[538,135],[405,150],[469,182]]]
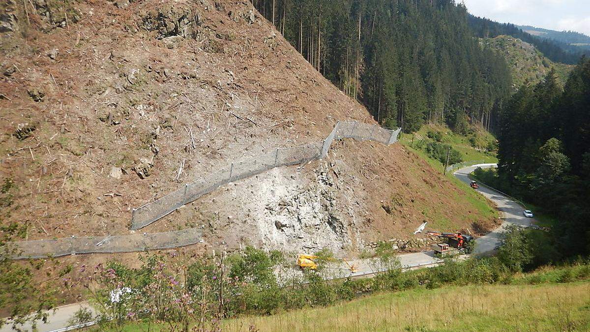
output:
[[[506,57],[515,88],[527,81],[532,84],[540,82],[551,69],[555,69],[560,82],[565,84],[569,71],[573,67],[567,64],[553,63],[543,56],[543,53],[540,53],[534,45],[507,35],[483,38],[481,44],[499,51]]]

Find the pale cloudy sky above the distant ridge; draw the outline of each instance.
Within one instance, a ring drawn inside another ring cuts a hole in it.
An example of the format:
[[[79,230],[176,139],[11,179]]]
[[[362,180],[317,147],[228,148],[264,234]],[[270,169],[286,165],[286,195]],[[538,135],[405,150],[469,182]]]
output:
[[[465,0],[476,16],[501,23],[590,35],[590,0]]]

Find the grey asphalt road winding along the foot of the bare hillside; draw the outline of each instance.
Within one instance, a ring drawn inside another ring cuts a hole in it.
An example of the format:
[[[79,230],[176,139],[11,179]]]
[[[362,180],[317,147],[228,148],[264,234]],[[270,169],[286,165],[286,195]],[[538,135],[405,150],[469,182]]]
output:
[[[459,180],[463,181],[466,184],[469,184],[471,179],[469,178],[469,174],[476,170],[477,167],[482,168],[489,168],[495,167],[496,164],[480,164],[480,165],[473,165],[470,167],[464,167],[460,170],[454,172],[455,177]],[[509,197],[504,196],[503,194],[498,193],[497,191],[491,190],[483,185],[480,185],[478,191],[485,197],[489,198],[489,200],[493,201],[497,204],[498,209],[501,212],[501,218],[503,219],[503,223],[500,227],[493,232],[478,237],[476,239],[476,247],[474,249],[474,253],[481,254],[485,252],[489,252],[494,250],[496,246],[500,242],[500,233],[503,232],[504,227],[508,224],[517,224],[520,226],[530,227],[532,226],[532,222],[534,221],[532,218],[526,218],[523,216],[523,207],[520,204],[512,201]],[[418,225],[417,225],[418,226]],[[399,255],[399,259],[404,269],[415,269],[421,268],[424,266],[435,266],[438,263],[442,262],[441,259],[438,259],[434,256],[434,252],[418,252],[418,253],[407,253],[404,255]],[[355,273],[351,273],[346,269],[338,269],[329,273],[325,276],[326,279],[333,279],[333,278],[343,278],[347,276],[352,277],[361,277],[375,274],[376,272],[380,272],[379,268],[373,266],[368,259],[359,259],[356,261],[352,261],[354,265],[358,267],[358,271]],[[68,326],[68,320],[78,311],[80,308],[89,308],[92,310],[89,304],[86,302],[64,305],[63,307],[56,308],[50,314],[49,320],[47,324],[42,324],[41,322],[38,323],[38,331],[40,332],[48,332],[48,331],[56,331],[60,330],[63,331],[65,327]],[[24,330],[30,330],[29,326],[25,326]],[[0,332],[8,332],[11,331],[9,326],[4,326],[0,328]]]

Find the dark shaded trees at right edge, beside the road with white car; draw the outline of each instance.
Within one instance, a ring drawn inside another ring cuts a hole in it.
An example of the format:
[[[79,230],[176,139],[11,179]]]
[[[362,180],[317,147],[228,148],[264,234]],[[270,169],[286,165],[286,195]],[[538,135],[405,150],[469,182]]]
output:
[[[499,131],[499,184],[558,217],[566,256],[590,253],[590,58],[560,88],[555,73],[506,102]]]

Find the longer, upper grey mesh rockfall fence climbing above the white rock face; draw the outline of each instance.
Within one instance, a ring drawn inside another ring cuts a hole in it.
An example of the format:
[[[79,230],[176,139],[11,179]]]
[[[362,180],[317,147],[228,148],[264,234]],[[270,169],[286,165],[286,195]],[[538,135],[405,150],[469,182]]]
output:
[[[353,138],[359,141],[371,140],[383,144],[392,144],[397,141],[400,131],[401,128],[391,131],[378,125],[369,125],[357,121],[339,121],[323,142],[284,149],[277,148],[274,151],[244,161],[231,162],[213,174],[205,175],[194,183],[187,183],[166,196],[133,209],[131,229],[136,230],[148,226],[179,207],[211,193],[211,191],[222,185],[260,174],[271,168],[304,164],[308,161],[324,158],[335,139]]]

